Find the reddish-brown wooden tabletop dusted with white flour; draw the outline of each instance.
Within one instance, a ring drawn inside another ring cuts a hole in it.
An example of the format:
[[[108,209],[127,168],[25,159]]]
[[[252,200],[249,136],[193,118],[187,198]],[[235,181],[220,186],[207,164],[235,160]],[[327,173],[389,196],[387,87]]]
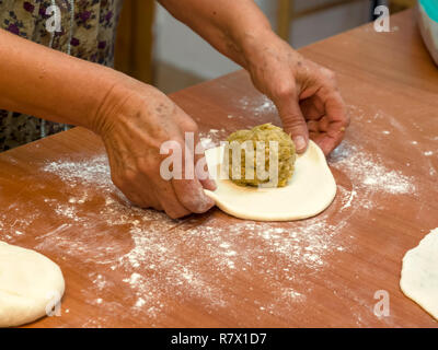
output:
[[[404,254],[438,226],[438,69],[412,12],[391,26],[301,50],[338,73],[353,119],[328,159],[337,196],[313,219],[129,208],[81,128],[0,154],[1,240],[45,254],[67,282],[61,315],[30,326],[437,327],[399,280]],[[242,71],[172,98],[212,140],[279,124]],[[379,295],[388,316],[374,314]]]

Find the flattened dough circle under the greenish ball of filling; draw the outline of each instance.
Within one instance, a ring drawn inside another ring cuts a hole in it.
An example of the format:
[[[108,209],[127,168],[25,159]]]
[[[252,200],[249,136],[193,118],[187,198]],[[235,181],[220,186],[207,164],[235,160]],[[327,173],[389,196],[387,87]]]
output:
[[[298,154],[293,176],[286,187],[242,187],[222,179],[223,147],[207,150],[206,159],[218,187],[215,191],[205,190],[207,196],[237,218],[257,221],[306,219],[322,212],[336,195],[336,183],[324,153],[313,141],[304,154]]]

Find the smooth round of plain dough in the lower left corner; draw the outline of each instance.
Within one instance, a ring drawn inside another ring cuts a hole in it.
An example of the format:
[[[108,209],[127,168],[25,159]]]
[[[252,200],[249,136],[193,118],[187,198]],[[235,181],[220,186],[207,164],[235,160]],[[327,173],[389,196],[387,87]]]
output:
[[[46,316],[64,294],[59,267],[44,255],[0,242],[0,327]]]

